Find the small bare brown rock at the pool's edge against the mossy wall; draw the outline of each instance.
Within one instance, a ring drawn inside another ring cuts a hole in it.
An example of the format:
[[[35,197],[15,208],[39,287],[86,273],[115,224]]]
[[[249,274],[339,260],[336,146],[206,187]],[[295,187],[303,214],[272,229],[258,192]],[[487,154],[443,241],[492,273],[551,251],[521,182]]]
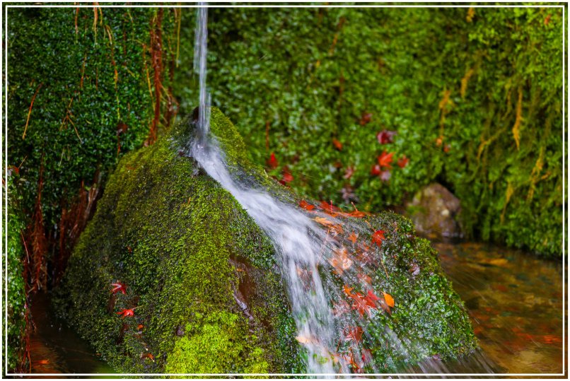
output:
[[[429,184],[417,192],[407,205],[417,232],[430,240],[446,241],[463,238],[457,221],[460,201],[441,184]]]

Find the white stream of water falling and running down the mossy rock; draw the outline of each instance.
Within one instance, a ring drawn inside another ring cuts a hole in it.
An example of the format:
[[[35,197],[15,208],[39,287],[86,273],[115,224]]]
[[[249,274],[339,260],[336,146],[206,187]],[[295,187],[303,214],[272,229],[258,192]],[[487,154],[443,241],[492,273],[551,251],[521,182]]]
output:
[[[206,87],[207,8],[199,8],[194,51],[194,70],[199,74],[199,138],[192,142],[190,155],[214,180],[230,192],[272,240],[281,254],[281,273],[289,289],[291,307],[299,336],[306,339],[309,373],[335,373],[331,362],[318,361],[334,351],[331,332],[335,322],[317,269],[325,236],[308,216],[277,201],[269,193],[245,187],[229,172],[221,149],[209,132],[209,95]],[[310,274],[312,289],[306,292],[302,274]],[[310,338],[319,338],[318,341]]]

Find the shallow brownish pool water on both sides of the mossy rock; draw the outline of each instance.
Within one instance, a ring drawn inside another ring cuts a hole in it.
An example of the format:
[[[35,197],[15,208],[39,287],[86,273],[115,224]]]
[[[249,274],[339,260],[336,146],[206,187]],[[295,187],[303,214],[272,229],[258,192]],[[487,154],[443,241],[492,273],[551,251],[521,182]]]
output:
[[[561,263],[481,243],[434,246],[496,370],[562,372]],[[54,317],[48,302],[47,295],[35,295],[31,303],[36,325],[30,338],[31,373],[113,373],[86,341]],[[448,368],[485,372],[477,362]]]

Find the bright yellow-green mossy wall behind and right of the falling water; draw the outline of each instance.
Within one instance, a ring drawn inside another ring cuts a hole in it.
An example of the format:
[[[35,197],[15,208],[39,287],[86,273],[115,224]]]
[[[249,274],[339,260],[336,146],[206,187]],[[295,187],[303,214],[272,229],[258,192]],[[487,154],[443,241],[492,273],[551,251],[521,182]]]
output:
[[[190,60],[194,11],[182,19]],[[562,253],[560,8],[211,8],[208,59],[214,105],[300,194],[377,211],[438,181],[472,238]],[[181,67],[190,111],[197,83]],[[378,143],[383,129],[393,143]],[[388,182],[371,175],[384,150]]]

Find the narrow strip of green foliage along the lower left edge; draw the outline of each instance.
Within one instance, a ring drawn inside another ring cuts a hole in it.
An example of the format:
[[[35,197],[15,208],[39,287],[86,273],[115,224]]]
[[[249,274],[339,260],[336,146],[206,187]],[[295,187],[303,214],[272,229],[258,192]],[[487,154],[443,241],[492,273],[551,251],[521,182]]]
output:
[[[23,278],[23,259],[25,258],[25,249],[22,243],[21,233],[25,228],[23,218],[20,211],[21,195],[18,194],[14,187],[13,173],[8,175],[6,180],[6,192],[8,200],[6,204],[2,204],[2,216],[8,217],[8,224],[2,229],[2,242],[7,241],[8,251],[2,254],[4,269],[8,274],[6,284],[8,286],[7,304],[2,303],[3,316],[8,318],[8,341],[2,341],[7,346],[8,354],[4,358],[8,363],[8,371],[19,371],[25,363],[25,314],[26,314],[26,298],[25,283]],[[6,208],[6,209],[5,209]],[[4,290],[4,284],[2,289]],[[4,348],[2,348],[4,353]]]

